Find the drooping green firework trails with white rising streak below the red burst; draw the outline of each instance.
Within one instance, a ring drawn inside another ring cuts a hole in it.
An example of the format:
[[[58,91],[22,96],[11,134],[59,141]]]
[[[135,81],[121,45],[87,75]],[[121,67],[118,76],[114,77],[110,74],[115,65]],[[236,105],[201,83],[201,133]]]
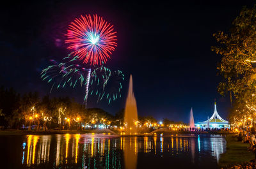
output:
[[[84,105],[87,105],[88,97],[91,95],[97,96],[97,103],[102,99],[111,103],[121,97],[121,82],[124,81],[122,71],[111,71],[105,66],[80,64],[81,61],[77,57],[70,56],[65,57],[60,63],[54,60],[51,62],[54,64],[41,73],[42,80],[52,83],[51,91],[53,88],[75,88],[80,85],[84,87]]]

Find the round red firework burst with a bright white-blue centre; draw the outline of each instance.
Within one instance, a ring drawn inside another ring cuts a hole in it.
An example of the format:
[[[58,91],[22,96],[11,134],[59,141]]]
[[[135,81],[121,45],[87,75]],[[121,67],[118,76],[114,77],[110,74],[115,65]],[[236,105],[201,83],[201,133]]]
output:
[[[76,18],[68,26],[68,49],[74,50],[73,55],[78,55],[80,60],[91,65],[104,64],[115,50],[116,32],[102,17],[85,15]]]

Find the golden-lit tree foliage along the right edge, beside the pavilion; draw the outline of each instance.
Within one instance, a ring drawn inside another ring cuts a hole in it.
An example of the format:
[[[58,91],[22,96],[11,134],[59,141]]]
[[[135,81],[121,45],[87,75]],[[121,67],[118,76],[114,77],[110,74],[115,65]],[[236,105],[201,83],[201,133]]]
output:
[[[223,96],[230,94],[232,102],[230,122],[234,126],[253,126],[256,119],[256,6],[243,7],[229,33],[219,31],[213,36],[219,45],[212,50],[222,56],[217,67],[223,77],[218,91]]]

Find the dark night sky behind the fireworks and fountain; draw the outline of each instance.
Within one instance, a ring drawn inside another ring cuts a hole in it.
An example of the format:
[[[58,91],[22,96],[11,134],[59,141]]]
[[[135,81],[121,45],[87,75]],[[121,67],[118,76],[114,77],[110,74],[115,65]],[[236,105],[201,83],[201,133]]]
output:
[[[138,114],[188,122],[218,112],[227,118],[230,101],[217,92],[221,56],[211,52],[217,31],[228,31],[241,8],[254,1],[21,1],[0,6],[0,85],[18,92],[48,94],[51,85],[40,79],[49,59],[60,61],[68,24],[85,14],[97,14],[115,26],[118,47],[106,66],[125,74],[122,99],[108,105],[93,103],[115,114],[125,105],[129,75],[134,81]],[[255,2],[254,2],[255,3]],[[83,102],[83,88],[54,91]]]

